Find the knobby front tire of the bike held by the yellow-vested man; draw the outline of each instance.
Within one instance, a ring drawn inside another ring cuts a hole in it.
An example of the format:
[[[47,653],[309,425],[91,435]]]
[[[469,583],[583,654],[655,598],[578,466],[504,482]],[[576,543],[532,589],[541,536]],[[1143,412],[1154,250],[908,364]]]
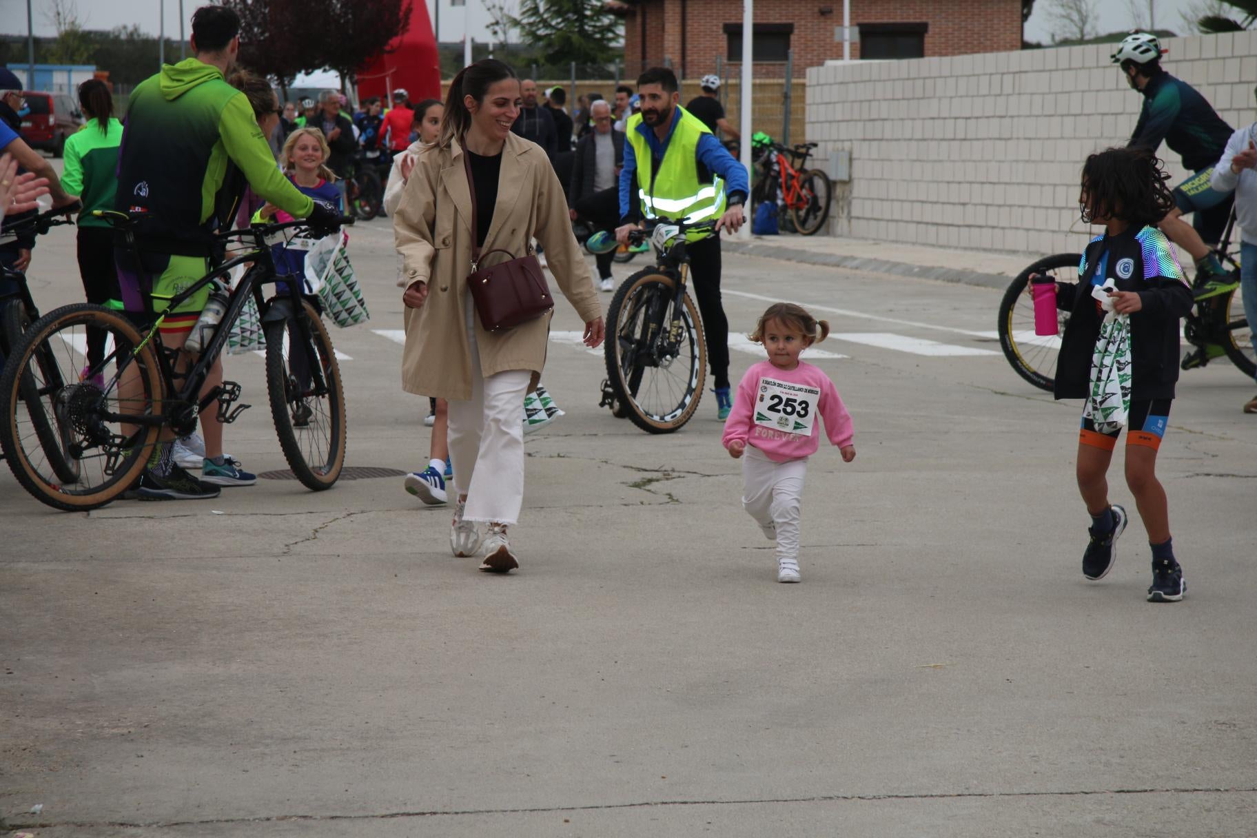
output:
[[[651,412],[644,407],[639,401],[639,395],[646,369],[640,364],[628,371],[622,367],[621,340],[626,343],[634,339],[640,340],[640,335],[632,334],[637,314],[642,314],[645,322],[646,307],[651,300],[666,304],[666,300],[671,299],[674,288],[675,283],[670,276],[660,274],[657,268],[647,268],[626,279],[616,290],[615,297],[611,298],[611,304],[607,308],[607,337],[603,347],[607,381],[627,418],[649,433],[672,433],[684,427],[698,410],[699,401],[703,398],[703,382],[706,379],[706,343],[703,339],[703,322],[689,294],[685,295],[683,303],[683,322],[686,329],[683,340],[689,342],[691,362],[684,383],[681,377],[675,374],[672,376],[675,383],[670,382],[669,389],[671,392],[681,391],[676,396],[676,405],[666,412]],[[655,298],[654,295],[661,297]],[[631,310],[626,310],[626,303],[631,303]],[[655,369],[666,372],[671,369],[675,361],[674,358],[666,367],[656,367]],[[652,384],[654,377],[647,387],[652,387]]]

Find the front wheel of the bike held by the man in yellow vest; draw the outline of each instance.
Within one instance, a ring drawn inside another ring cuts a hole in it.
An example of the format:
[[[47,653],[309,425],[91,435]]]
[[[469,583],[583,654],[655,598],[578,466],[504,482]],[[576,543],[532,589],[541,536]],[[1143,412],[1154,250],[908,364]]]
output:
[[[706,377],[703,322],[688,294],[680,328],[671,328],[675,288],[670,276],[642,270],[625,280],[607,309],[607,379],[627,417],[650,433],[689,422]]]

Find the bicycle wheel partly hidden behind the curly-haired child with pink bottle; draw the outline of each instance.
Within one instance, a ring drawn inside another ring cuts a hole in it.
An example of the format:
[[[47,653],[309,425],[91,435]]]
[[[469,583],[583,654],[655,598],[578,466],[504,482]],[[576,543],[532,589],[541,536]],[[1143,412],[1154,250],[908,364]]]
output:
[[[1057,281],[1076,281],[1079,254],[1056,254],[1040,259],[1017,274],[999,303],[999,348],[1017,374],[1040,389],[1051,391],[1056,383],[1056,356],[1061,349],[1067,312],[1056,313],[1057,335],[1035,334],[1035,300],[1029,294],[1029,275],[1046,274]]]

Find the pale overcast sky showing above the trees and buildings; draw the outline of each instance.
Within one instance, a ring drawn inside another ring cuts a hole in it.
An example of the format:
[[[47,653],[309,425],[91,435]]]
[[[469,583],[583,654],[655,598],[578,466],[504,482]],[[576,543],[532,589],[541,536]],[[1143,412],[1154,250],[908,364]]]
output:
[[[166,6],[166,33],[167,36],[178,38],[178,5],[180,0],[74,0],[78,4],[79,16],[87,29],[113,29],[123,24],[138,24],[142,30],[152,35],[157,34],[158,18],[162,4]],[[362,0],[370,1],[370,0]],[[730,5],[738,5],[738,0],[728,0]],[[1026,24],[1026,38],[1042,43],[1051,41],[1051,20],[1048,11],[1056,0],[1037,0],[1035,14]],[[184,0],[184,14],[191,16],[204,0]],[[1138,0],[1146,9],[1148,0]],[[1161,29],[1173,29],[1183,33],[1182,11],[1190,5],[1192,0],[1154,0],[1156,8],[1156,24]],[[432,10],[434,0],[429,0],[429,10]],[[473,8],[480,5],[479,0],[471,0]],[[939,6],[945,6],[947,0],[939,0]],[[1101,31],[1114,31],[1126,29],[1131,25],[1131,15],[1126,0],[1099,0]],[[54,34],[48,23],[48,10],[50,0],[31,0],[34,11],[35,34]],[[442,0],[442,9],[447,9],[447,0]],[[461,9],[455,15],[461,15]],[[461,24],[461,20],[458,20]],[[461,36],[460,26],[449,26],[441,21],[442,40],[458,40]],[[26,33],[26,0],[0,0],[0,26],[4,33]],[[186,26],[185,26],[186,29]],[[459,31],[450,31],[459,29]]]

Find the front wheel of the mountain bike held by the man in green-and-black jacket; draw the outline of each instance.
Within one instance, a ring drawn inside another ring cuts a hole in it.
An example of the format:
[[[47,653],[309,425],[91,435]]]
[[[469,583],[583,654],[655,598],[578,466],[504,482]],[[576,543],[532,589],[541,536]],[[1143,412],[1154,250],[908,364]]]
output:
[[[344,467],[344,388],[323,319],[309,302],[303,302],[297,317],[304,318],[310,340],[300,337],[292,320],[264,327],[266,391],[284,459],[302,485],[322,491],[336,484]],[[314,364],[322,382],[316,381]]]

